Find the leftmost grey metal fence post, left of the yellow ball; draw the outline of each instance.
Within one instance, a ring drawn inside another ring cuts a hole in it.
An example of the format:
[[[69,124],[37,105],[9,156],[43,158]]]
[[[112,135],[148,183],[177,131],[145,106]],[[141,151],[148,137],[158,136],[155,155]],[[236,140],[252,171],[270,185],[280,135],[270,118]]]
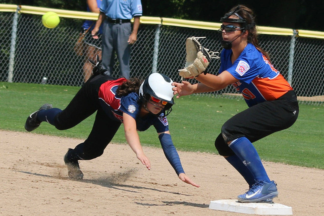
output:
[[[9,69],[8,69],[8,82],[12,83],[14,64],[15,64],[15,50],[16,50],[16,38],[17,38],[17,23],[18,23],[18,11],[20,6],[17,6],[17,10],[12,20],[11,28],[11,41],[10,41],[10,52],[9,52]]]

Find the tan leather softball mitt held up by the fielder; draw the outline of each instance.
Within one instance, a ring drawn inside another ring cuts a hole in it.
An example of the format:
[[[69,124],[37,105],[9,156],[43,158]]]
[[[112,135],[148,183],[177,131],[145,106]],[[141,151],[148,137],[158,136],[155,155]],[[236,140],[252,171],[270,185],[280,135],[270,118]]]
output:
[[[186,64],[183,69],[179,70],[179,75],[186,79],[197,77],[199,74],[205,72],[211,59],[219,59],[219,52],[209,51],[204,48],[199,38],[206,37],[190,37],[186,40]]]

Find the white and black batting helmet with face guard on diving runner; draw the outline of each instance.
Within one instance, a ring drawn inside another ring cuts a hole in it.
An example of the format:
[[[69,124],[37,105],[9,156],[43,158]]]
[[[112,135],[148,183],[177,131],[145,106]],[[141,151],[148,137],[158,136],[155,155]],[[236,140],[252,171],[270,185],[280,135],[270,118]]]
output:
[[[172,90],[173,86],[171,85],[172,82],[173,81],[167,75],[160,73],[152,73],[146,77],[139,89],[140,101],[142,102],[142,105],[146,111],[153,114],[146,108],[146,104],[151,103],[149,101],[151,96],[168,102],[163,108],[163,110],[166,111],[166,114],[163,117],[167,116],[172,111],[171,107],[174,104],[174,95]],[[163,110],[161,112],[163,112]],[[153,115],[159,116],[161,112]]]

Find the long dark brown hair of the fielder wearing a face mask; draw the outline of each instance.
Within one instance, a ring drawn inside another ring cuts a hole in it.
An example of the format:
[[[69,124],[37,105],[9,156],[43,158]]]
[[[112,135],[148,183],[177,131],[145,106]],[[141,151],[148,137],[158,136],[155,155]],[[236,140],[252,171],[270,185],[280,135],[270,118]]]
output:
[[[237,5],[237,6],[233,7],[229,12],[235,11],[235,10],[238,10],[237,11],[238,15],[240,15],[243,19],[246,19],[247,25],[254,22],[255,15],[254,15],[253,11],[250,8],[248,8],[247,6]],[[233,16],[236,16],[236,15],[233,14]],[[239,17],[237,17],[237,18],[239,18]],[[257,48],[257,50],[262,52],[265,55],[265,57],[268,59],[268,61],[270,62],[269,54],[266,51],[264,51],[259,45],[256,26],[249,28],[248,31],[249,31],[248,42],[252,43]]]

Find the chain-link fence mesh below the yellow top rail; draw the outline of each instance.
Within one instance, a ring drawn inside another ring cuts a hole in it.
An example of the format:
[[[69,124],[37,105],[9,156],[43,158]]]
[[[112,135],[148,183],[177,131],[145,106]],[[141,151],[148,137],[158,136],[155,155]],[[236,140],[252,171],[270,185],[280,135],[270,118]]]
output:
[[[0,81],[83,84],[87,57],[74,51],[83,20],[61,17],[59,26],[49,29],[42,25],[40,15],[1,12],[0,18]],[[160,72],[180,81],[178,69],[184,66],[185,39],[190,36],[206,36],[201,39],[204,47],[221,51],[221,35],[215,30],[141,24],[132,47],[131,77],[143,79]],[[323,105],[324,40],[264,34],[259,42],[270,53],[274,67],[291,83],[300,103]],[[118,77],[117,58],[115,62],[112,75]],[[217,74],[219,64],[213,60],[208,72]],[[47,79],[42,80],[44,77]],[[231,86],[207,95],[241,97]]]

